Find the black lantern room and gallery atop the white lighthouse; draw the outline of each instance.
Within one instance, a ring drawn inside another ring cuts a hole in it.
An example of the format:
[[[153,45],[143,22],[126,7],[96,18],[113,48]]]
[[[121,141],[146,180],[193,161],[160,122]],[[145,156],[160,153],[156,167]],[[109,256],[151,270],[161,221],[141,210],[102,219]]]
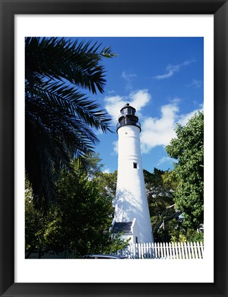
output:
[[[129,103],[127,103],[121,110],[120,110],[120,115],[118,118],[118,123],[117,123],[117,130],[121,126],[126,126],[126,125],[133,125],[137,126],[140,131],[141,131],[141,125],[139,123],[139,118],[137,114],[135,113],[135,108],[130,106]]]

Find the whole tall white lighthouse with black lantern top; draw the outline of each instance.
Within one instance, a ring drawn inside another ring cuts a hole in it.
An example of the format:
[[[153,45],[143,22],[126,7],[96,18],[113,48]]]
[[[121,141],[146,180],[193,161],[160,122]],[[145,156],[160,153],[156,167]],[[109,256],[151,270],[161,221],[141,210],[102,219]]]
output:
[[[153,242],[148,199],[141,165],[141,125],[135,108],[128,103],[117,123],[118,173],[113,233],[124,232],[130,243]]]

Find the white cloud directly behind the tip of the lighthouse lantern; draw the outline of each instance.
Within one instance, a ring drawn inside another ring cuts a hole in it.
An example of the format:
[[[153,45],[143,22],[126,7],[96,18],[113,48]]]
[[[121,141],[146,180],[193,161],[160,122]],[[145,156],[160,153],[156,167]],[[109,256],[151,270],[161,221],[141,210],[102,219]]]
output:
[[[106,111],[113,118],[113,122],[116,124],[120,109],[129,103],[135,107],[136,111],[140,111],[150,101],[150,94],[147,89],[138,90],[130,93],[128,96],[109,96],[104,98]]]

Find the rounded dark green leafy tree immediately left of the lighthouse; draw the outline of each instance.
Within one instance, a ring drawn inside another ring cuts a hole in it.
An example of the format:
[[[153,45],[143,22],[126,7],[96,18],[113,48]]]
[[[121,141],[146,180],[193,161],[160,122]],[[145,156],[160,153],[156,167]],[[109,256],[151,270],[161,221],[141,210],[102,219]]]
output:
[[[62,215],[62,228],[69,248],[80,254],[100,252],[105,240],[104,231],[112,221],[111,201],[100,195],[98,184],[78,171],[77,175],[65,171],[58,182],[58,206]],[[72,240],[74,239],[74,240]]]

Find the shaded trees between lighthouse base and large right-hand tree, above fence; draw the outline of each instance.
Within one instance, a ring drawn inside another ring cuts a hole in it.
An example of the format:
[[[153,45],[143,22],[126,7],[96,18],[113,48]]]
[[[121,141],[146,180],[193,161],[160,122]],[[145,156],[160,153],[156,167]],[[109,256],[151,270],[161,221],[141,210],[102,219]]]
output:
[[[144,170],[146,193],[155,242],[203,241],[203,232],[186,225],[182,211],[176,206],[179,185],[174,170]]]

